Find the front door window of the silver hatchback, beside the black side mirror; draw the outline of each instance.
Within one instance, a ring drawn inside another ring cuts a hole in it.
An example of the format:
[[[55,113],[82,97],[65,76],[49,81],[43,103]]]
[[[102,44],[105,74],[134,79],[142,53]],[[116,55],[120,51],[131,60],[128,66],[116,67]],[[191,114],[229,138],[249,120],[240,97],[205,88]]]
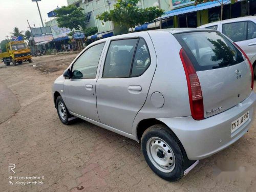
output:
[[[72,78],[95,78],[104,42],[87,49],[74,63]]]

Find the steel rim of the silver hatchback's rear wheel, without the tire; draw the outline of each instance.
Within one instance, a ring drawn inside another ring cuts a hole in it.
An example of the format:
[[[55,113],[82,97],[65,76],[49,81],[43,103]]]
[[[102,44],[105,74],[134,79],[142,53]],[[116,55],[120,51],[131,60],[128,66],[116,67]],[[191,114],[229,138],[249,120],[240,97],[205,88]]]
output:
[[[161,172],[170,173],[175,168],[172,148],[159,137],[152,137],[146,143],[146,152],[153,165]]]

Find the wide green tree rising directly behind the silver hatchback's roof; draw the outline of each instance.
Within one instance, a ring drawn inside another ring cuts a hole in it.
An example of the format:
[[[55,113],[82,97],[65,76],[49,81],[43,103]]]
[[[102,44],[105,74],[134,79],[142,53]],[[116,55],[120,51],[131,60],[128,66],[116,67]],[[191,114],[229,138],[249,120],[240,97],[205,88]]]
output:
[[[163,15],[164,10],[159,7],[140,9],[137,6],[139,0],[117,0],[114,9],[97,15],[96,19],[103,22],[112,21],[121,27],[134,28],[147,22],[153,22]]]

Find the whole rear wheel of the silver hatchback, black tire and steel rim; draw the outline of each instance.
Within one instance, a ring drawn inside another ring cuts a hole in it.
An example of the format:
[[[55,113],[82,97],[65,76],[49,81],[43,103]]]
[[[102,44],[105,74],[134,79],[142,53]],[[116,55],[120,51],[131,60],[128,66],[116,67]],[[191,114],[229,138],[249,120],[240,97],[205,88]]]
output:
[[[167,181],[184,176],[182,146],[169,127],[156,124],[143,133],[141,148],[145,160],[155,174]]]

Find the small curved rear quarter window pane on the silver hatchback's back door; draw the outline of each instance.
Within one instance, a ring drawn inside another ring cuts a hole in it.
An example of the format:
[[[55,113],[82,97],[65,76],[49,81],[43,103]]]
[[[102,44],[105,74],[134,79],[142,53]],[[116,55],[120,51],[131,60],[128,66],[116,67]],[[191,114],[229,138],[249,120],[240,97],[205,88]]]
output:
[[[150,52],[147,49],[145,40],[140,38],[135,52],[131,76],[140,76],[150,66],[150,63]]]

